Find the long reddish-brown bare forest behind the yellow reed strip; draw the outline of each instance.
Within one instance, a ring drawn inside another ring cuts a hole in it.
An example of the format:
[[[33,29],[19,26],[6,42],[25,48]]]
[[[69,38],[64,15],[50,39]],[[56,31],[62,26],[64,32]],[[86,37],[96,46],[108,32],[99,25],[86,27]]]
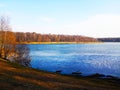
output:
[[[17,42],[96,42],[97,39],[80,35],[39,34],[14,32]]]

